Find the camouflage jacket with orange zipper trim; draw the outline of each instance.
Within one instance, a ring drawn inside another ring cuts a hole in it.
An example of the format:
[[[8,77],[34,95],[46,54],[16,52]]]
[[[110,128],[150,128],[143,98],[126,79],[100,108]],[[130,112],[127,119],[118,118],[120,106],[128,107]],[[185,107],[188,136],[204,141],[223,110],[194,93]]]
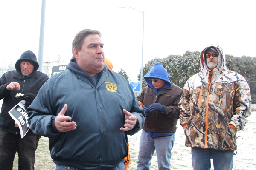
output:
[[[186,146],[236,150],[236,131],[250,115],[250,88],[240,74],[225,68],[203,69],[188,79],[180,99],[180,125]]]

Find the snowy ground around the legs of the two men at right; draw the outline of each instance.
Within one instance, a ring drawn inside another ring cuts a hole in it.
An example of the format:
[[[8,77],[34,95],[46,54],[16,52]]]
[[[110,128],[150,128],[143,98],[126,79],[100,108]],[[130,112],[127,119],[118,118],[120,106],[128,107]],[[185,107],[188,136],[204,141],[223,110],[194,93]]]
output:
[[[256,105],[253,105],[253,112],[247,118],[248,122],[244,130],[237,132],[237,154],[233,157],[233,170],[256,170]],[[185,135],[183,128],[177,124],[175,133],[175,144],[172,149],[171,168],[172,170],[192,170],[192,156],[190,147],[185,146]],[[137,156],[139,152],[140,132],[128,136],[130,145],[131,165],[128,170],[136,170]],[[158,170],[157,155],[151,160],[150,170]],[[213,170],[213,165],[211,165]]]

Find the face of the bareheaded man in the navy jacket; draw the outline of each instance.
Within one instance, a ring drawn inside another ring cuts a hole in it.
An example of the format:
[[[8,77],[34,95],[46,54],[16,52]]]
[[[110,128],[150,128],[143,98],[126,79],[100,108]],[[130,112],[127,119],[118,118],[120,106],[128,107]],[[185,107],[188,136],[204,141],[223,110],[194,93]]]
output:
[[[81,50],[73,49],[76,64],[87,74],[95,76],[105,66],[103,43],[97,34],[84,38]]]

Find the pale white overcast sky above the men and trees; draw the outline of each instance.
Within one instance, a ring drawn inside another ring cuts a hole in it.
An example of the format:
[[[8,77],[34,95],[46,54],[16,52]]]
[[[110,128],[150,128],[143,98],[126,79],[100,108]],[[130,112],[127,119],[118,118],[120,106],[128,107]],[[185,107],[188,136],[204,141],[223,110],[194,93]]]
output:
[[[38,56],[41,0],[0,0],[0,60]],[[256,57],[255,0],[46,0],[44,62],[58,55],[68,63],[72,41],[83,29],[102,33],[113,71],[132,81],[149,60],[202,51],[219,43],[225,54]],[[129,6],[131,8],[118,8]],[[134,9],[138,10],[135,11]],[[2,64],[1,64],[2,65]]]

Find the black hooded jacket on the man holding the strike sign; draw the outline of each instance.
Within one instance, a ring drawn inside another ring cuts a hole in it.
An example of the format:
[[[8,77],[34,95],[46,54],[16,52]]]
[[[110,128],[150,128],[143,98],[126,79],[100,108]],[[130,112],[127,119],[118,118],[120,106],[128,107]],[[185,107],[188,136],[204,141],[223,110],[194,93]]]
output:
[[[30,62],[34,65],[34,71],[26,78],[23,76],[20,69],[20,62],[22,61]],[[32,51],[24,52],[20,59],[17,60],[15,67],[16,70],[4,73],[0,79],[0,100],[3,99],[2,110],[0,113],[0,130],[17,135],[20,134],[19,127],[15,127],[15,121],[8,113],[8,111],[20,102],[20,98],[15,98],[15,94],[38,94],[39,89],[49,79],[49,77],[46,74],[37,71],[38,63],[36,61],[35,54]],[[20,84],[20,90],[7,90],[6,86],[10,82],[18,82]],[[29,130],[27,134],[29,135],[34,133]]]

